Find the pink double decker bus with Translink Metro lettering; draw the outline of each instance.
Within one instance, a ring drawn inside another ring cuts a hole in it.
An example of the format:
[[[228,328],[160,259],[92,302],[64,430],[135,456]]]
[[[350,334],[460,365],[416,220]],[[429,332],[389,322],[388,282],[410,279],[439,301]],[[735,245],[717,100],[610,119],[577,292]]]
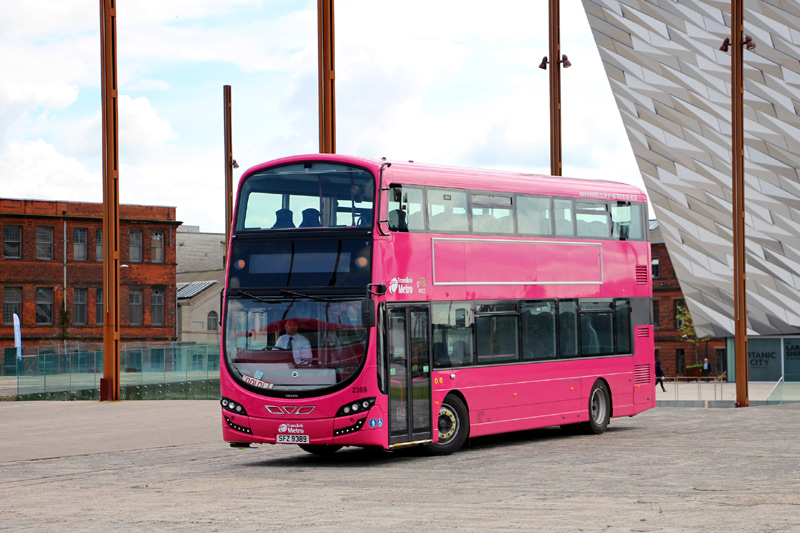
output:
[[[244,173],[232,446],[458,450],[655,406],[647,204],[607,181],[296,156]]]

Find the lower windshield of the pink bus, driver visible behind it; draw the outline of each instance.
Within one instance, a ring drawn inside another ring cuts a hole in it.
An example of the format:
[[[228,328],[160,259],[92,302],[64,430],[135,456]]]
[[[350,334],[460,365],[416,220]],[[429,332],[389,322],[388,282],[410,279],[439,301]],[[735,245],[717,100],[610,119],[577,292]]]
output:
[[[254,296],[229,300],[227,311],[228,368],[264,394],[334,387],[355,375],[364,360],[368,329],[361,300]]]

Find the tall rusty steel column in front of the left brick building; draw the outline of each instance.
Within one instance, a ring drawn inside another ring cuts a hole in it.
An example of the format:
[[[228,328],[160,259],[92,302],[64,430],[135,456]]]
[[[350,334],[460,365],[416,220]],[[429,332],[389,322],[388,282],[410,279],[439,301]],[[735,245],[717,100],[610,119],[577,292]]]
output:
[[[103,378],[100,400],[119,400],[119,138],[116,0],[100,0],[103,107]]]

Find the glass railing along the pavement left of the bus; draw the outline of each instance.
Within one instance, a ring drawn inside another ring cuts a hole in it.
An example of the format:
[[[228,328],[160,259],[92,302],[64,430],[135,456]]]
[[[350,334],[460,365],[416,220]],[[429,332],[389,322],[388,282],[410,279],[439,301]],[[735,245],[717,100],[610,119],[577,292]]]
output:
[[[0,399],[99,400],[103,347],[63,343],[6,349]],[[219,344],[124,343],[120,348],[120,399],[219,398]]]

